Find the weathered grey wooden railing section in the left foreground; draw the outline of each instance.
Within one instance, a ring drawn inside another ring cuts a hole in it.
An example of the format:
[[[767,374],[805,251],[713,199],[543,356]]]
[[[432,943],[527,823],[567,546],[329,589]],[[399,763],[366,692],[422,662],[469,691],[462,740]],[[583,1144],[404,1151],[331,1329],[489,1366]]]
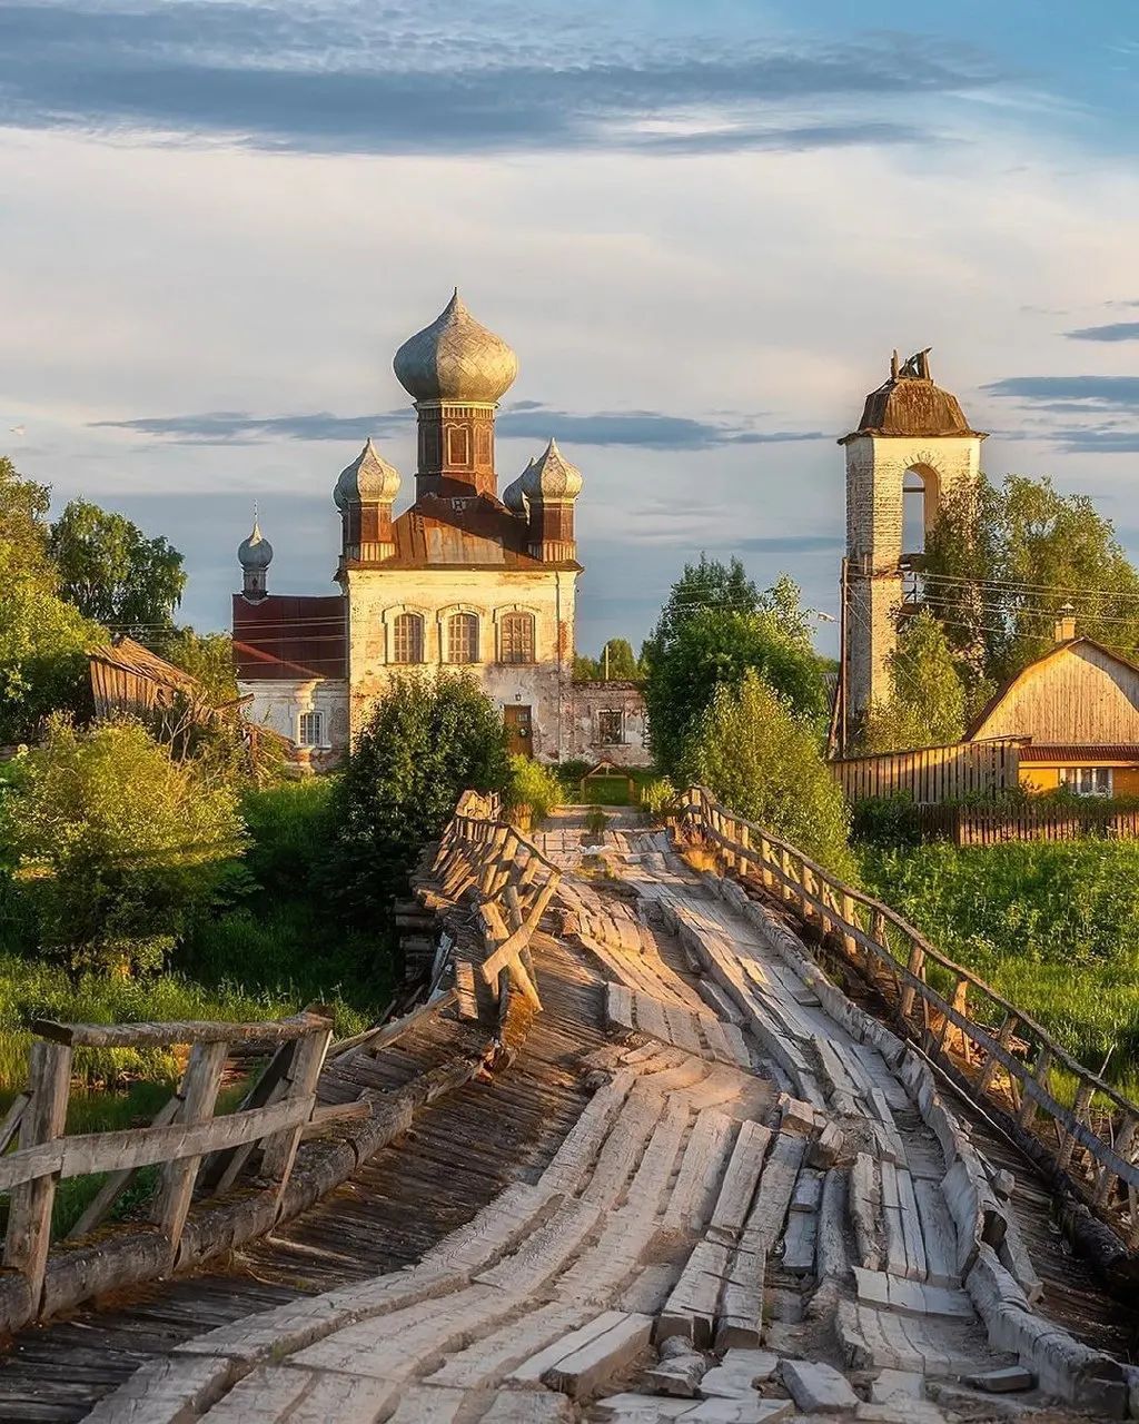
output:
[[[140,1168],[161,1165],[151,1220],[165,1239],[167,1267],[178,1245],[195,1186],[226,1190],[252,1152],[259,1175],[275,1183],[278,1200],[292,1172],[305,1125],[313,1116],[316,1079],[332,1037],[332,1020],[305,1011],[261,1024],[57,1024],[33,1022],[28,1087],[0,1126],[0,1190],[9,1193],[4,1266],[27,1283],[31,1317],[38,1314],[51,1240],[56,1189],[65,1178],[110,1173],[68,1233],[93,1232]],[[67,1104],[77,1048],[189,1047],[178,1092],[149,1126],[68,1134]],[[275,1049],[266,1069],[232,1114],[215,1116],[218,1089],[232,1048]],[[17,1138],[16,1151],[9,1146]]]

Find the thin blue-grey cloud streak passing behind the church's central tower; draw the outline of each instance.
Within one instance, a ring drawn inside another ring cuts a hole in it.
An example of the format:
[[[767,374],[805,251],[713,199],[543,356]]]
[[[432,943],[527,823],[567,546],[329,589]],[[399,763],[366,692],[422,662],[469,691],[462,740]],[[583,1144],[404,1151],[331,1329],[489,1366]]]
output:
[[[411,414],[389,410],[373,416],[335,416],[319,410],[298,416],[251,416],[211,410],[187,416],[141,416],[97,420],[94,429],[127,430],[174,444],[266,444],[275,440],[359,441],[410,429]],[[716,446],[784,444],[829,439],[822,430],[755,430],[747,426],[668,416],[656,410],[609,410],[574,414],[537,400],[520,400],[498,416],[498,433],[520,440],[565,444],[639,446],[645,450],[709,450]]]

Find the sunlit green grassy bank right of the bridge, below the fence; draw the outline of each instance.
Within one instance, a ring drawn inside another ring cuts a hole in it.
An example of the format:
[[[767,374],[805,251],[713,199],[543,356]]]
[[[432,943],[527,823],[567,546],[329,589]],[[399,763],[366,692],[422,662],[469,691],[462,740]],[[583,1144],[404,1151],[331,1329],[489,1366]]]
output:
[[[1139,842],[864,849],[861,866],[944,954],[1139,1096]]]

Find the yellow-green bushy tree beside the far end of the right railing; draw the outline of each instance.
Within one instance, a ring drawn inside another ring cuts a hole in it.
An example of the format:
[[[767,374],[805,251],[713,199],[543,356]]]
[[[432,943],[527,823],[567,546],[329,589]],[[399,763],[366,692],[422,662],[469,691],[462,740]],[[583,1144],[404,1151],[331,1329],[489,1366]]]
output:
[[[836,874],[853,873],[847,806],[817,732],[755,669],[716,688],[683,770]]]

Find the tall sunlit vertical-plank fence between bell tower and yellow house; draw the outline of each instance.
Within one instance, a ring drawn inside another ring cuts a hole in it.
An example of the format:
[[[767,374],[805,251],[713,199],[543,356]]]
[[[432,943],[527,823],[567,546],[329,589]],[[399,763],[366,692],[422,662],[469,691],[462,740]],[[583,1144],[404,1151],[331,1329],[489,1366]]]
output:
[[[997,796],[1019,785],[1021,743],[1012,739],[955,742],[913,752],[849,756],[830,763],[851,803],[908,793],[920,806]]]

